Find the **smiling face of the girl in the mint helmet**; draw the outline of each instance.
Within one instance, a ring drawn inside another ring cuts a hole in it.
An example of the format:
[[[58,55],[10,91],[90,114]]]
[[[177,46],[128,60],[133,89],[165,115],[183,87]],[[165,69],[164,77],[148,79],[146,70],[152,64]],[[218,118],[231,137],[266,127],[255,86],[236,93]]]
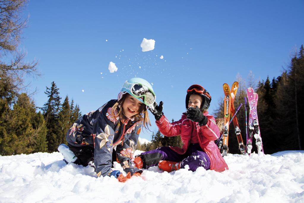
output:
[[[137,100],[132,95],[128,94],[125,101],[123,102],[123,114],[131,118],[132,116],[135,116],[139,113],[140,107],[144,105],[142,102]]]

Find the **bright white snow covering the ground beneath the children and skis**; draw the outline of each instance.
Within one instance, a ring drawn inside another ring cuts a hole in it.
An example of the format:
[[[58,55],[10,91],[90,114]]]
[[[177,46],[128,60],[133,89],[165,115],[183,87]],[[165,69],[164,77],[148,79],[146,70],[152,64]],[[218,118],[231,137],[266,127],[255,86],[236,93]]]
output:
[[[0,202],[304,202],[303,151],[228,154],[230,170],[222,173],[152,167],[125,183],[96,178],[90,166],[62,158],[59,152],[0,156]]]

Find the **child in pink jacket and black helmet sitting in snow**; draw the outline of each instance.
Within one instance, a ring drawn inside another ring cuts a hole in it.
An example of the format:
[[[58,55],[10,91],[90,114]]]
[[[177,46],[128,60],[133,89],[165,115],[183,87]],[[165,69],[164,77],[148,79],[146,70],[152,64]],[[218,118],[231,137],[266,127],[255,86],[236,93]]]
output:
[[[187,90],[186,109],[179,121],[170,123],[164,116],[163,103],[160,102],[151,111],[156,119],[156,124],[165,136],[181,136],[184,143],[179,147],[160,147],[143,152],[134,160],[138,168],[159,166],[171,172],[184,168],[195,171],[199,166],[206,170],[224,171],[228,166],[221,156],[214,140],[219,138],[219,128],[212,115],[208,114],[211,96],[200,85],[192,85]]]

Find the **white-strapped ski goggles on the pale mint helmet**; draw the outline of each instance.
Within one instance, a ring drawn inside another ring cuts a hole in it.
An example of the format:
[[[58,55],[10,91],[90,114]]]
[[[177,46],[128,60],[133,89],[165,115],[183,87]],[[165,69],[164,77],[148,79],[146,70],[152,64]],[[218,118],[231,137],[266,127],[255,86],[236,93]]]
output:
[[[147,106],[152,106],[155,102],[156,96],[147,86],[139,83],[125,82],[123,84],[123,89]]]

